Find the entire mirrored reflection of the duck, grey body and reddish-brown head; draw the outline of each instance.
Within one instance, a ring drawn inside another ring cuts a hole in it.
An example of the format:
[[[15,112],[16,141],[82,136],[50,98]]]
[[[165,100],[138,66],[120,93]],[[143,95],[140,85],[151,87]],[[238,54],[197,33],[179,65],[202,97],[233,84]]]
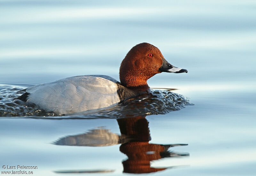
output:
[[[187,156],[168,151],[170,147],[187,144],[150,144],[151,140],[148,121],[145,117],[128,117],[117,119],[121,135],[110,132],[108,129],[97,128],[87,133],[67,136],[54,142],[56,145],[69,146],[110,146],[120,144],[120,151],[128,156],[123,161],[126,173],[150,173],[167,168],[152,168],[150,161],[172,156]]]

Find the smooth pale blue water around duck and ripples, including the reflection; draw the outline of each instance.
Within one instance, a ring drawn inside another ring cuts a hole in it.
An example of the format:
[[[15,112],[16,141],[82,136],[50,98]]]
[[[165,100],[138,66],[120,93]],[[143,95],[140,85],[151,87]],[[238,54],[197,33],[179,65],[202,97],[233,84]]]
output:
[[[130,118],[118,108],[86,117],[3,115],[1,172],[255,175],[255,1],[0,0],[0,16],[2,103],[69,76],[118,79],[125,54],[148,42],[188,69],[148,85],[177,89],[194,104],[157,115],[131,110]]]

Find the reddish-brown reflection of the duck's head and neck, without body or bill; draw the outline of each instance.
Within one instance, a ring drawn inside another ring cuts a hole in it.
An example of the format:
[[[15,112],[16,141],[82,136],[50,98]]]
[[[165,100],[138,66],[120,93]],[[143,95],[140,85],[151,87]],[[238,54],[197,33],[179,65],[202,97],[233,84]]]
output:
[[[164,151],[164,146],[148,143],[151,139],[147,119],[138,116],[117,121],[121,133],[132,139],[131,142],[120,146],[120,151],[128,156],[128,159],[123,161],[124,172],[150,173],[165,170],[166,168],[150,167],[150,161],[161,158],[160,152]]]

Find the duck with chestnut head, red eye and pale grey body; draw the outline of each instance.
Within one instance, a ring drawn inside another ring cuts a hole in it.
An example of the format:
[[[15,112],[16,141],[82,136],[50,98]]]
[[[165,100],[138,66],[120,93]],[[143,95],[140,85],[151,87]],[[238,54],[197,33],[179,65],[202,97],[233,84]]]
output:
[[[73,76],[23,89],[17,99],[57,115],[93,113],[151,92],[147,80],[162,72],[188,70],[172,66],[156,46],[140,43],[121,62],[120,82],[106,75]]]

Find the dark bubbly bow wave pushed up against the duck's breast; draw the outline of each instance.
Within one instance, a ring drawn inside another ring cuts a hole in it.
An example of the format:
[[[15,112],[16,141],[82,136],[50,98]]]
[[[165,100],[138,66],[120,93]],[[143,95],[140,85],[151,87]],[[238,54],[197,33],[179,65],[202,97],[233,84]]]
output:
[[[105,116],[109,118],[145,116],[152,114],[167,114],[170,111],[180,110],[186,105],[193,105],[189,98],[178,93],[167,90],[152,90],[148,94],[128,100],[125,103],[109,108],[94,116]]]

